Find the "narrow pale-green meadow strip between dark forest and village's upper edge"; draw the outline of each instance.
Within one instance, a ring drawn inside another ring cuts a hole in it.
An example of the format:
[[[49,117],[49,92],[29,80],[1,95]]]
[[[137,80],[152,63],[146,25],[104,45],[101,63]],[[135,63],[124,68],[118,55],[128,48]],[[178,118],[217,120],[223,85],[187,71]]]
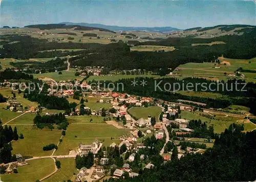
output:
[[[137,77],[159,77],[158,75],[113,75],[113,76],[91,76],[87,79],[87,81],[104,81],[104,80],[109,80],[109,81],[117,81],[119,79],[128,79],[128,78],[137,78]]]

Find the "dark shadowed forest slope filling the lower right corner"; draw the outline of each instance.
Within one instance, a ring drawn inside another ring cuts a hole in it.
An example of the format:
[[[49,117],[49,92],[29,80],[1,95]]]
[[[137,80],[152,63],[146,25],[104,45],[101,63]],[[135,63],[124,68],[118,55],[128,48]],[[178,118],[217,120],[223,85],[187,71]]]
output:
[[[134,178],[108,181],[254,181],[256,179],[256,131],[241,132],[230,125],[204,154],[187,154]],[[106,180],[105,180],[106,181]]]

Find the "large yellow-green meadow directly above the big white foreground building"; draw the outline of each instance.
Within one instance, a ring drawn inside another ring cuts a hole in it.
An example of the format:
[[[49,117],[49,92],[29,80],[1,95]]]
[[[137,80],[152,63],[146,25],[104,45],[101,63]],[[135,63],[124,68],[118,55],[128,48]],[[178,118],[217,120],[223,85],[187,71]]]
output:
[[[104,146],[109,146],[111,143],[120,143],[119,139],[111,140],[111,138],[118,138],[124,134],[129,134],[130,130],[117,129],[108,124],[99,123],[73,123],[68,126],[63,142],[60,143],[55,155],[65,155],[69,150],[73,150],[79,146],[80,143],[92,144],[95,139],[103,140]],[[75,136],[77,136],[75,138]]]

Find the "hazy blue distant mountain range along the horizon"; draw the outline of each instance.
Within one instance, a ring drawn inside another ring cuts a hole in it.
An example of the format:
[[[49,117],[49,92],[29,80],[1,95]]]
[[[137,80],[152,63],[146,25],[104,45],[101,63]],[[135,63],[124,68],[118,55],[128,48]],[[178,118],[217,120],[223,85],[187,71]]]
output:
[[[61,22],[60,24],[66,25],[79,25],[84,27],[96,27],[101,29],[108,29],[111,31],[148,31],[148,32],[171,32],[180,30],[174,27],[119,27],[102,24],[88,24],[88,23],[73,23],[73,22]]]

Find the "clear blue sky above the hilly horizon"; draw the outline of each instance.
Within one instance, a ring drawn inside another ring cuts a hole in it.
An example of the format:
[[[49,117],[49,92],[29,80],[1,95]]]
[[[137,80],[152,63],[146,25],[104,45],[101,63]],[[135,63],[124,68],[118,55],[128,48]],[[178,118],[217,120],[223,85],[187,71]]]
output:
[[[0,0],[0,27],[63,21],[187,29],[256,25],[256,0]]]

